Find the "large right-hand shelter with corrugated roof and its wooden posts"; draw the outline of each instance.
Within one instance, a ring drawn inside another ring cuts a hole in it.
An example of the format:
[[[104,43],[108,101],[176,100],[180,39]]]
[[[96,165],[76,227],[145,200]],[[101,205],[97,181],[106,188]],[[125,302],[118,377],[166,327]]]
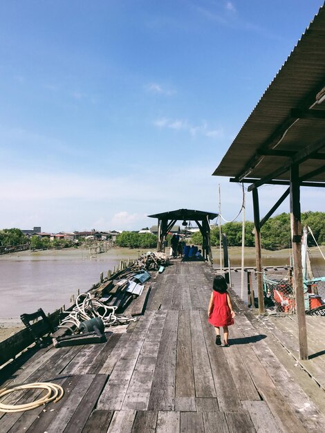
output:
[[[325,7],[319,9],[232,142],[214,176],[249,183],[253,194],[259,313],[264,312],[260,229],[290,196],[301,359],[308,358],[301,272],[300,187],[325,187]],[[258,188],[288,185],[260,219]]]

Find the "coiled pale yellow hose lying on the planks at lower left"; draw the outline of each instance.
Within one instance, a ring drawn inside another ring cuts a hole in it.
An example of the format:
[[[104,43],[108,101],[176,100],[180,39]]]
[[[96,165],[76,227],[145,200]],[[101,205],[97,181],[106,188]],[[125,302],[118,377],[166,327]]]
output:
[[[3,405],[0,403],[0,412],[24,412],[25,410],[35,409],[41,405],[46,405],[50,401],[54,400],[56,403],[64,395],[64,389],[55,383],[46,382],[35,382],[28,383],[26,385],[17,385],[16,387],[8,387],[0,389],[0,398],[6,396],[14,391],[20,391],[21,389],[46,389],[46,395],[38,400],[32,401],[30,403],[25,403],[24,405]]]

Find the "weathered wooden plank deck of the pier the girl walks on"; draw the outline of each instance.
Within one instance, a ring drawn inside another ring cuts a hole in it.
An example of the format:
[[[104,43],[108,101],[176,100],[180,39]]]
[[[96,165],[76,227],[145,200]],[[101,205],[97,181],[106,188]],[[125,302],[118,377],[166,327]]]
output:
[[[145,315],[127,332],[24,353],[0,371],[1,383],[55,382],[65,394],[45,409],[1,414],[0,432],[325,431],[324,390],[280,342],[285,335],[294,347],[295,322],[285,318],[287,333],[281,318],[260,321],[233,293],[231,345],[217,347],[207,323],[212,279],[207,264],[176,260],[153,275]],[[6,403],[36,395],[21,391]]]

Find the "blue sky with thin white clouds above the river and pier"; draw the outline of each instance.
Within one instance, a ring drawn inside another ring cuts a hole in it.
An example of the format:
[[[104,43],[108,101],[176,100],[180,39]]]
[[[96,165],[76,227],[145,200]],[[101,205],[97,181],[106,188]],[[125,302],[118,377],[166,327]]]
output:
[[[241,188],[211,174],[322,4],[1,1],[0,228],[136,230],[218,212],[219,184],[233,219]],[[325,211],[319,190],[301,210]]]

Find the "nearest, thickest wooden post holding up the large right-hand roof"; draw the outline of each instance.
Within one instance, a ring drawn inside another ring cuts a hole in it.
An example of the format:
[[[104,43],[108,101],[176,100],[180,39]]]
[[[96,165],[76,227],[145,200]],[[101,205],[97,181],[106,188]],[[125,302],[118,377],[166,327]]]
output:
[[[306,360],[308,359],[308,344],[301,263],[299,165],[292,165],[290,168],[290,222],[293,241],[293,284],[297,304],[299,357],[301,360]]]

